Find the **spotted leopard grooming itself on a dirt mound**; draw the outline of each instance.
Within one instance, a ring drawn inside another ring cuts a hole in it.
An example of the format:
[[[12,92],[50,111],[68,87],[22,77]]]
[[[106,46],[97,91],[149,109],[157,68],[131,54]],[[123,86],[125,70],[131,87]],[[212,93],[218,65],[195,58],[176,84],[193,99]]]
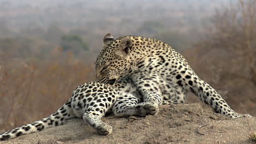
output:
[[[231,118],[251,117],[234,112],[220,95],[202,81],[187,61],[170,45],[156,39],[126,36],[103,38],[96,81],[75,88],[72,97],[49,117],[0,134],[0,141],[62,125],[83,118],[98,134],[112,127],[101,118],[157,115],[160,105],[180,104],[190,90],[214,110]]]

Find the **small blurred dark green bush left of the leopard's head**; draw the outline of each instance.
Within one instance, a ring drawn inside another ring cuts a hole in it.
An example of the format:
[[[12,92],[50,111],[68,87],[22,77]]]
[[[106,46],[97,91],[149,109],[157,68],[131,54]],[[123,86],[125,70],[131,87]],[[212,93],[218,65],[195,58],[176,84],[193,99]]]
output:
[[[88,44],[86,44],[78,35],[62,35],[61,47],[63,51],[72,51],[74,53],[78,53],[81,50],[89,50]]]

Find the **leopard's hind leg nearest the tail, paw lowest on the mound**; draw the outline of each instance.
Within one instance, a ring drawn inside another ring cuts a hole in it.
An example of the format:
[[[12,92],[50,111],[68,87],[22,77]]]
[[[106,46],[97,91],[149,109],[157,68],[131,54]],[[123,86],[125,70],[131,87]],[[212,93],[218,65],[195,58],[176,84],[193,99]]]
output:
[[[119,96],[119,92],[108,85],[103,85],[102,87],[106,89],[106,92],[102,91],[100,88],[101,84],[94,85],[91,89],[95,89],[94,92],[82,93],[84,94],[84,99],[74,100],[74,110],[83,111],[82,117],[90,127],[94,128],[99,134],[109,135],[112,133],[112,127],[105,122],[101,121],[101,118],[113,107],[113,104]],[[96,88],[98,88],[96,91]],[[90,88],[90,87],[88,87]],[[88,92],[87,89],[84,91]],[[81,91],[80,91],[81,92]],[[81,95],[79,95],[81,96]],[[79,97],[78,97],[79,98]],[[80,103],[83,102],[83,103]],[[80,109],[80,107],[83,107]],[[79,113],[79,112],[77,112]]]

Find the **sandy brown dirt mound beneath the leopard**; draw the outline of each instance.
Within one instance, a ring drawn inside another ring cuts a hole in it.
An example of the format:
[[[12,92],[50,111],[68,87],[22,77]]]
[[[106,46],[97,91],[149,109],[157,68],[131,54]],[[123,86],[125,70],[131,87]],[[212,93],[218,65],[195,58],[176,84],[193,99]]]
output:
[[[82,119],[2,143],[252,143],[256,118],[230,120],[204,104],[161,106],[156,116],[108,116],[109,136],[98,135]]]

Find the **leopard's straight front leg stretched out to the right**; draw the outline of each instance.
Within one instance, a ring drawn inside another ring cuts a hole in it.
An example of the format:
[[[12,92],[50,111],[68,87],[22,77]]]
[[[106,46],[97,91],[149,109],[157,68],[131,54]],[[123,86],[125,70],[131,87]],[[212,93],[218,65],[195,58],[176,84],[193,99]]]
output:
[[[176,77],[177,86],[190,90],[203,103],[210,105],[218,113],[230,118],[251,117],[249,115],[241,115],[232,110],[217,91],[208,83],[201,80],[189,66],[184,69],[183,73],[177,73],[174,76]]]

